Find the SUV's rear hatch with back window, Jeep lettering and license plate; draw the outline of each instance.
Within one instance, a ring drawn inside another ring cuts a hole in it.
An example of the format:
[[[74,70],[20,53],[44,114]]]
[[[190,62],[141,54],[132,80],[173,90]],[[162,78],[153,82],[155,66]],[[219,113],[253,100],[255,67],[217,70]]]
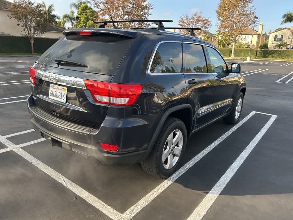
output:
[[[66,31],[33,65],[33,93],[39,110],[99,128],[108,104],[93,99],[84,79],[110,82],[136,35],[134,31],[98,28]]]

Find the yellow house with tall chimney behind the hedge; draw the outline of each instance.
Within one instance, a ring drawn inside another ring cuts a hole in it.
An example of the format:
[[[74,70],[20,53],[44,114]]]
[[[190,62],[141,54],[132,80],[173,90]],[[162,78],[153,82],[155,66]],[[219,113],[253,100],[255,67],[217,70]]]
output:
[[[263,34],[263,23],[259,24],[258,31],[252,28],[246,28],[245,31],[239,36],[238,41],[246,45],[250,45],[252,38],[252,48],[258,48],[259,45],[265,42],[266,35]]]

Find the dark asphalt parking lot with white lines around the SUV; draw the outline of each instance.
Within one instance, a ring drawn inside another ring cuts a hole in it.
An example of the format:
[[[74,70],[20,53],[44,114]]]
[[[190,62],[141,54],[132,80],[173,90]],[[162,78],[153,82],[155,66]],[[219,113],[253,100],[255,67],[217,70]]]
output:
[[[195,133],[161,180],[49,148],[25,102],[37,58],[0,56],[1,220],[292,219],[293,61],[227,60],[247,80],[241,121]]]

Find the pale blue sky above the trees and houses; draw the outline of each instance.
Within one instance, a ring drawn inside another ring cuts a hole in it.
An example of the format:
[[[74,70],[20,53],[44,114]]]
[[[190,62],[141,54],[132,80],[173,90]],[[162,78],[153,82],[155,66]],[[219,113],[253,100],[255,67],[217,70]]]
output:
[[[35,1],[42,2],[42,0]],[[69,4],[73,2],[73,0],[44,1],[47,5],[54,4],[55,13],[59,16],[69,13]],[[193,14],[195,11],[202,11],[202,16],[210,17],[211,19],[212,27],[210,32],[215,33],[217,30],[217,16],[215,11],[218,7],[219,0],[149,0],[149,2],[154,5],[154,9],[151,10],[151,16],[149,16],[149,19],[173,20],[173,23],[165,23],[164,25],[166,27],[178,26],[179,17],[183,14]],[[270,30],[274,31],[277,28],[289,28],[290,26],[293,26],[293,24],[290,25],[288,23],[285,25],[280,24],[282,21],[282,15],[288,10],[293,11],[292,0],[282,0],[280,4],[272,0],[254,0],[253,5],[255,6],[256,16],[258,16],[259,22],[264,23],[263,33],[269,33]],[[258,26],[255,29],[258,30]]]

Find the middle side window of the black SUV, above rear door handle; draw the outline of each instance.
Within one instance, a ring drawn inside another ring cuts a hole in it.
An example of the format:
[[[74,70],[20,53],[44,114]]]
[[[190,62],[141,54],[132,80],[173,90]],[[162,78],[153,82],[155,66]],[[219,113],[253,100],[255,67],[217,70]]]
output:
[[[207,72],[207,63],[202,45],[183,43],[183,72]]]

